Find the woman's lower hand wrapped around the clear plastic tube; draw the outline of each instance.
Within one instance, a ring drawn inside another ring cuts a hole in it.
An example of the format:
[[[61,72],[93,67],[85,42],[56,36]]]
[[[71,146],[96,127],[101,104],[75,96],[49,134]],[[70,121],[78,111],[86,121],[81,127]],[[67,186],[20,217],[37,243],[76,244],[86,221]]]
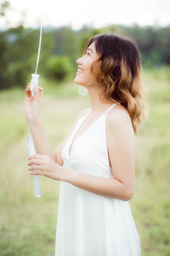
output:
[[[43,175],[53,180],[62,181],[63,167],[54,162],[50,157],[44,155],[31,155],[28,157],[28,170],[31,175]]]

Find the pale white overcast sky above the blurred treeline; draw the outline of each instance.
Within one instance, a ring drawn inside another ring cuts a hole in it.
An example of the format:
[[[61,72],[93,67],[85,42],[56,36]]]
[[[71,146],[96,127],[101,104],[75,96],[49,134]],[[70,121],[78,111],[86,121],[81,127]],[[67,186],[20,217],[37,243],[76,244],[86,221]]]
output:
[[[0,0],[0,3],[3,0]],[[169,0],[9,0],[6,19],[0,17],[0,28],[83,25],[100,28],[110,24],[131,26],[170,25]],[[6,23],[8,20],[8,24]]]

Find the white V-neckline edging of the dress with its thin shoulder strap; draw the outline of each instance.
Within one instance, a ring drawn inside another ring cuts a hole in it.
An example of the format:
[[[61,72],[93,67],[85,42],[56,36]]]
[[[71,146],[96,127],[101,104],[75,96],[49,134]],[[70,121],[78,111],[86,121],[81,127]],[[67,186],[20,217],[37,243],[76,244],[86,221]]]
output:
[[[110,108],[111,108],[113,105],[114,105],[114,104],[112,104],[112,105],[110,106]],[[108,110],[109,110],[110,108],[108,108]],[[83,132],[83,133],[81,134],[81,136],[77,137],[77,138],[74,140],[74,138],[75,138],[75,136],[76,136],[78,130],[80,129],[81,125],[83,124],[83,122],[84,122],[86,116],[88,115],[88,113],[89,113],[90,111],[87,112],[84,116],[81,117],[81,118],[84,117],[84,118],[83,118],[83,121],[80,123],[79,127],[77,128],[77,130],[76,130],[76,132],[75,132],[75,134],[74,134],[73,139],[72,139],[71,142],[69,143],[69,147],[68,147],[68,157],[69,157],[69,158],[70,158],[70,155],[71,155],[71,152],[72,152],[72,146],[73,146],[74,142],[76,142],[76,141],[77,141],[79,138],[81,138],[86,132],[88,132],[88,131],[94,126],[94,124],[95,124],[102,116],[104,116],[105,114],[107,114],[108,110],[107,110],[103,115],[99,116],[99,117],[95,120],[95,122],[94,122],[85,132]],[[78,122],[81,120],[81,118],[78,120]],[[70,151],[70,147],[71,147],[71,151]]]

